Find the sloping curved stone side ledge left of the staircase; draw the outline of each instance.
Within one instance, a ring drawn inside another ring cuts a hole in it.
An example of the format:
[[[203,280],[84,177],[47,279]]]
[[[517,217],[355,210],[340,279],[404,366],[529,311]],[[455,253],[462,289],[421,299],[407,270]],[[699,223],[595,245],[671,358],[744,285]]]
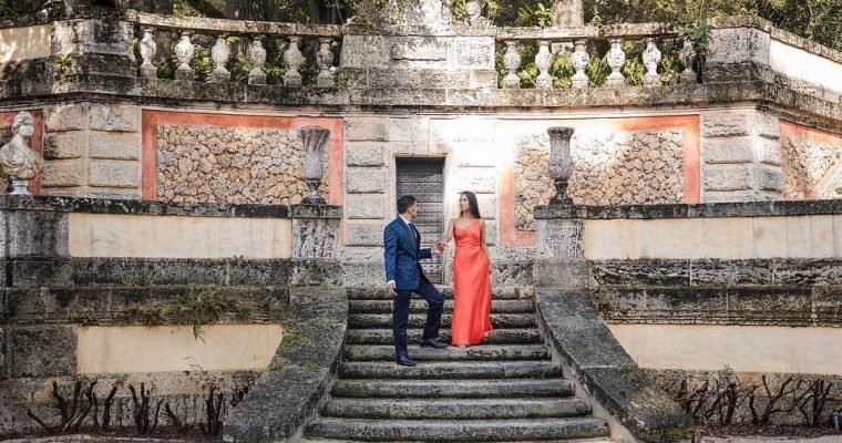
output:
[[[348,320],[345,289],[295,290],[297,301],[269,371],[223,429],[229,443],[286,441],[316,413],[339,363]]]

